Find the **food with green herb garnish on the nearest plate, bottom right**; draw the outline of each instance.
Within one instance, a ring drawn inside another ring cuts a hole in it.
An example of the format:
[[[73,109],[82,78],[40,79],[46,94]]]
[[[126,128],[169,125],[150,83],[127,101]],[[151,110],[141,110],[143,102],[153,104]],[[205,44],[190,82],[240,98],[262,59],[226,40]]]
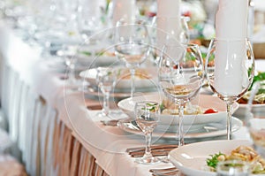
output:
[[[248,146],[239,146],[233,149],[230,154],[222,152],[210,155],[206,160],[209,170],[216,172],[216,166],[220,161],[240,160],[250,164],[251,172],[254,174],[265,173],[265,160],[253,148]]]

